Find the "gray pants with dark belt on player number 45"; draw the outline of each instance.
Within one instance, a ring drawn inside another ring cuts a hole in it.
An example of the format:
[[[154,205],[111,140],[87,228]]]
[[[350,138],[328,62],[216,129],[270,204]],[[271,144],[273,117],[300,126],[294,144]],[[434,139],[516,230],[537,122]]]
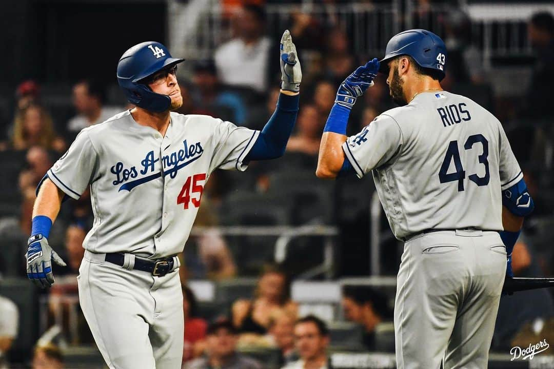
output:
[[[183,294],[179,273],[153,277],[85,251],[79,300],[111,369],[178,369],[183,357]]]

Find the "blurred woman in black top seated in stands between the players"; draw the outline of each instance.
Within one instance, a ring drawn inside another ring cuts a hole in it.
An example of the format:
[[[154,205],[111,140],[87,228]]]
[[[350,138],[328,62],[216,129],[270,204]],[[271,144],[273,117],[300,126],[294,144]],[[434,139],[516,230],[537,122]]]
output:
[[[258,282],[254,300],[233,304],[233,324],[242,335],[265,335],[271,317],[279,313],[297,316],[298,305],[290,299],[290,282],[278,266],[266,266]]]

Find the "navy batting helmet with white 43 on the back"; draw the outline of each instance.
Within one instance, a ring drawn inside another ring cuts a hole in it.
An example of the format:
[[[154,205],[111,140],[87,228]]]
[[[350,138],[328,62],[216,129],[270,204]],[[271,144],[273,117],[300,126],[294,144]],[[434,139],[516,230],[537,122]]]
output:
[[[447,47],[440,37],[424,29],[408,29],[388,41],[384,58],[379,61],[379,71],[388,71],[388,61],[400,55],[409,55],[416,63],[434,70],[439,81],[444,78],[447,61]]]

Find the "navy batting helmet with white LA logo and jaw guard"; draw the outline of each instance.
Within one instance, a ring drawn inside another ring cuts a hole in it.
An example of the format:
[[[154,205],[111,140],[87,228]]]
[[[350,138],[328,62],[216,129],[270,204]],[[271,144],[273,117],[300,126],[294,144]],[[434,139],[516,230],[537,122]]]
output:
[[[184,59],[172,58],[166,46],[159,42],[140,43],[125,51],[119,59],[117,83],[130,103],[148,111],[166,111],[171,106],[171,97],[152,92],[142,80],[182,61]]]

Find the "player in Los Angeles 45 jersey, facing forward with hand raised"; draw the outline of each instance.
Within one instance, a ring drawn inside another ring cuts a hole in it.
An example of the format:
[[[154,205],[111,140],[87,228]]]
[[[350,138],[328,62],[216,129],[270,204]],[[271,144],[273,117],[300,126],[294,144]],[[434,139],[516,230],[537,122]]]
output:
[[[117,80],[135,108],[83,129],[39,185],[27,274],[54,283],[50,226],[64,196],[90,186],[94,225],[85,238],[79,299],[110,368],[180,368],[183,251],[214,169],[245,170],[283,155],[298,110],[300,63],[289,31],[281,39],[281,93],[263,131],[221,119],[180,115],[176,68],[165,46],[127,50]]]

